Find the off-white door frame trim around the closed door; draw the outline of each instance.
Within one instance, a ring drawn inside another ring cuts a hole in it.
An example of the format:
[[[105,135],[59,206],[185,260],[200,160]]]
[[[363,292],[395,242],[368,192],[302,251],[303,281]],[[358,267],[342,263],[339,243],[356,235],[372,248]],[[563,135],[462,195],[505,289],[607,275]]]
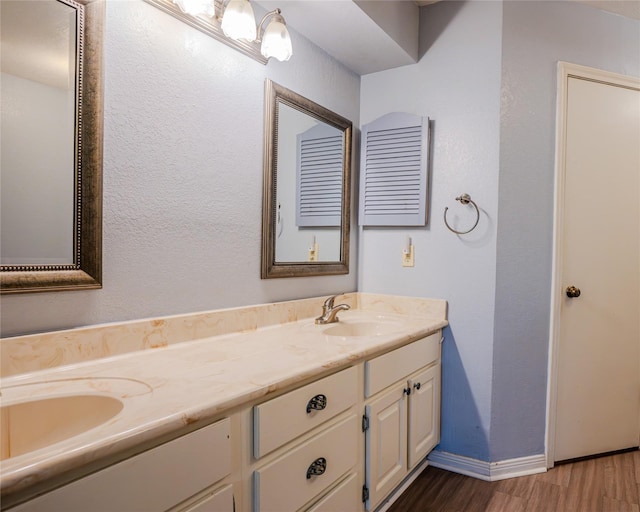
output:
[[[545,457],[547,468],[554,465],[556,405],[558,386],[558,343],[560,338],[560,308],[562,299],[562,233],[564,230],[565,147],[567,136],[567,95],[569,78],[614,84],[631,89],[640,88],[640,78],[602,71],[568,62],[558,62],[556,97],[556,161],[553,222],[553,262],[551,274],[551,318],[549,329],[549,363],[547,379],[547,432]]]

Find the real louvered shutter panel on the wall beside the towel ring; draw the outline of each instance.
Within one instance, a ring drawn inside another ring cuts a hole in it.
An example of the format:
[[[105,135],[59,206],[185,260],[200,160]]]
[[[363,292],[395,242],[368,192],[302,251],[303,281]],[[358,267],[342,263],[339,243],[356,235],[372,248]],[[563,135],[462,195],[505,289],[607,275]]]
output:
[[[429,118],[393,112],[362,127],[360,225],[425,226]]]

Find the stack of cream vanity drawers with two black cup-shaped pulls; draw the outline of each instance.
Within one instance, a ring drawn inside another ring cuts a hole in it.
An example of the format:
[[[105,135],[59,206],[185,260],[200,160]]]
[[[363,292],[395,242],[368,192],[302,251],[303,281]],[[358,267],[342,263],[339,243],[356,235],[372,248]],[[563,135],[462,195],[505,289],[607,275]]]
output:
[[[362,507],[358,389],[351,367],[253,408],[254,512]]]

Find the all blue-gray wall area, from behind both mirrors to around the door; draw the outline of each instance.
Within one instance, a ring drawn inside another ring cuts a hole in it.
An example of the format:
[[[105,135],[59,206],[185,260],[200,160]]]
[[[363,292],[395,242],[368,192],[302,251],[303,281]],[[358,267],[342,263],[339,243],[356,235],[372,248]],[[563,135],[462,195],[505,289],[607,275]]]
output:
[[[640,22],[573,2],[442,2],[421,9],[420,62],[362,87],[292,36],[292,60],[264,67],[141,0],[107,3],[104,288],[3,296],[2,335],[355,289],[355,236],[347,276],[259,278],[269,77],[356,127],[434,120],[429,223],[363,230],[358,287],[449,301],[440,449],[543,453],[556,62],[640,75]],[[458,237],[442,213],[464,227],[463,192],[481,219]]]

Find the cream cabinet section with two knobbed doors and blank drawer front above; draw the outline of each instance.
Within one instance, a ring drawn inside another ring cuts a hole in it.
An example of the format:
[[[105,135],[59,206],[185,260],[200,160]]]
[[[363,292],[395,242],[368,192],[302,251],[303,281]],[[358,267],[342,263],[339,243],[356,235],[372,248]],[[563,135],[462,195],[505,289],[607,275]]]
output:
[[[367,510],[438,443],[440,332],[365,362]]]

